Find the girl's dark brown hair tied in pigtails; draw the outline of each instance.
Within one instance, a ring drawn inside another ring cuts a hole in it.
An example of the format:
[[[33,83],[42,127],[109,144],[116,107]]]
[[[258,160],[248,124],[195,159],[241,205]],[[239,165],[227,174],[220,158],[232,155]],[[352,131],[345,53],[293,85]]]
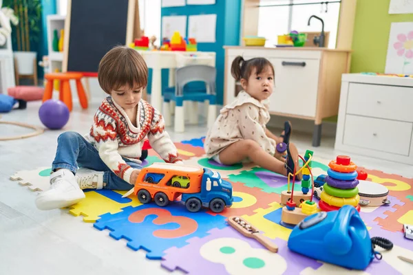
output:
[[[231,74],[237,81],[241,80],[241,78],[248,81],[254,68],[256,69],[256,74],[261,74],[266,67],[270,67],[273,70],[273,74],[275,74],[273,64],[266,58],[256,57],[245,61],[242,56],[237,56],[231,65]]]

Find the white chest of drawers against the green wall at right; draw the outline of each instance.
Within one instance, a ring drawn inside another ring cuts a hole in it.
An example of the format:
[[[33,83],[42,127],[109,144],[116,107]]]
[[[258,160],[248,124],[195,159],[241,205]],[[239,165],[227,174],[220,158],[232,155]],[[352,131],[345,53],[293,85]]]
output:
[[[343,74],[335,148],[413,164],[413,78]]]

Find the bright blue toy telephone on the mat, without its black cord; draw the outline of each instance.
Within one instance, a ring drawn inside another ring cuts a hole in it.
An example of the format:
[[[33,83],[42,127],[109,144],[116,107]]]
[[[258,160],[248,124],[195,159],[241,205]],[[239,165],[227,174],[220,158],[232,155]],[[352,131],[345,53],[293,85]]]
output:
[[[288,248],[319,261],[364,270],[374,258],[366,225],[354,206],[318,212],[298,223]]]

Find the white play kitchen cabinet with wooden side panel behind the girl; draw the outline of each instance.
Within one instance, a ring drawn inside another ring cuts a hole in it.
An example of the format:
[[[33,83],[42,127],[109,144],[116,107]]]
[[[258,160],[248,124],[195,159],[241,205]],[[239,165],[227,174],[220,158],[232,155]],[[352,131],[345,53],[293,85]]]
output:
[[[267,58],[275,69],[270,113],[314,121],[313,146],[319,146],[323,118],[337,115],[339,111],[341,74],[349,72],[351,51],[324,47],[229,46],[224,49],[224,104],[232,102],[242,89],[231,76],[235,57]]]

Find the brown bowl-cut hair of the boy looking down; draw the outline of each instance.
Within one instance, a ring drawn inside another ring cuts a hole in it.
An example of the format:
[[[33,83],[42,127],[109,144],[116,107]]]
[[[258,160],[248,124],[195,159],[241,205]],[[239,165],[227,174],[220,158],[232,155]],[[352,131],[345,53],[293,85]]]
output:
[[[117,46],[107,52],[99,63],[98,81],[105,93],[127,85],[134,89],[145,88],[148,83],[148,67],[142,56],[130,47]]]

